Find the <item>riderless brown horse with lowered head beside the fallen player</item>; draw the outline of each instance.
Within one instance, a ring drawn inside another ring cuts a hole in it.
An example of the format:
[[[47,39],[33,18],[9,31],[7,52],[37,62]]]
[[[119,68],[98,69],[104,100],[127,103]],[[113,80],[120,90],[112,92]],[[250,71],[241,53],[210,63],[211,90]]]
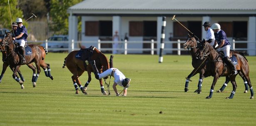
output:
[[[107,57],[100,52],[97,48],[93,47],[92,48],[92,56],[88,58],[87,61],[95,61],[97,69],[100,71],[100,73],[104,72],[105,70],[109,69],[109,62]],[[78,53],[78,51],[72,51],[70,52],[67,57],[65,58],[64,64],[62,68],[67,68],[70,70],[70,72],[73,74],[72,75],[72,81],[75,86],[76,94],[79,93],[77,85],[80,87],[83,93],[87,95],[86,89],[87,86],[89,85],[89,82],[92,80],[91,78],[91,72],[93,72],[92,65],[88,64],[85,67],[85,61],[77,59],[75,55]],[[85,83],[85,87],[83,87],[80,83],[79,77],[87,71],[88,73],[88,80]],[[102,84],[102,79],[99,79],[100,87],[101,87],[101,92],[103,95],[107,95],[107,92],[104,90],[104,86]]]

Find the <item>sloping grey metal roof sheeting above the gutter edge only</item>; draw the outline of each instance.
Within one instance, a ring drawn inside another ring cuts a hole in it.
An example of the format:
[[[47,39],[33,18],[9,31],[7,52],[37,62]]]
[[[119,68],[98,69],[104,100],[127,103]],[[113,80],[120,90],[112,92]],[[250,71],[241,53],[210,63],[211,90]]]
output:
[[[256,10],[256,0],[84,0],[68,10]]]

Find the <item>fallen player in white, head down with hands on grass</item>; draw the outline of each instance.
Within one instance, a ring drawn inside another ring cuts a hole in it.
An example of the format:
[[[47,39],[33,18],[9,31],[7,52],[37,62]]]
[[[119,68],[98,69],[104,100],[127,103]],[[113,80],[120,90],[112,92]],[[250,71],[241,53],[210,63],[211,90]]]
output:
[[[92,65],[96,79],[102,79],[107,77],[108,75],[111,75],[112,77],[114,77],[113,89],[114,89],[114,92],[117,94],[117,96],[120,95],[117,92],[117,87],[116,87],[117,85],[124,87],[124,93],[122,96],[127,95],[127,88],[130,86],[131,79],[125,78],[124,74],[121,71],[119,71],[117,68],[109,68],[103,73],[99,73],[95,65],[95,61],[90,61],[90,64]]]

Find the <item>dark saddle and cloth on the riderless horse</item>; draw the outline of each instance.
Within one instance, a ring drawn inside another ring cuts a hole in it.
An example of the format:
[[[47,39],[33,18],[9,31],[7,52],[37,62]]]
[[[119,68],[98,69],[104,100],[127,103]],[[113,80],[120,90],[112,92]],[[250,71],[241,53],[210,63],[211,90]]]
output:
[[[89,48],[81,48],[77,54],[75,55],[76,58],[86,61],[89,60],[92,56],[93,50],[95,49],[94,46],[90,46]]]

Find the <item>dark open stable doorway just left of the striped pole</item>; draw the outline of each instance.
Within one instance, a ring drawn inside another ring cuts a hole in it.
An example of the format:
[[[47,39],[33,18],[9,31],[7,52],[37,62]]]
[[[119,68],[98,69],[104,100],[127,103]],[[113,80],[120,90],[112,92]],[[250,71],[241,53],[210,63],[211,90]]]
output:
[[[143,21],[143,41],[151,41],[152,39],[157,41],[157,21]],[[143,43],[143,48],[151,48],[151,44]],[[154,44],[154,48],[157,48],[157,44]],[[144,54],[150,54],[150,52],[143,51]]]

